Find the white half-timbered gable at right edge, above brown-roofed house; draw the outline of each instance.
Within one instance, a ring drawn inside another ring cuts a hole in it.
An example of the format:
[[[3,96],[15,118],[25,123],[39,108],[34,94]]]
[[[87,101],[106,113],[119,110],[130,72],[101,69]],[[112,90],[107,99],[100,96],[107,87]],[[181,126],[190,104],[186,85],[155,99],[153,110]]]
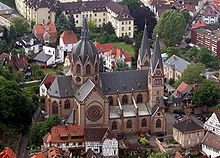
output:
[[[215,111],[204,123],[204,128],[214,134],[220,135],[220,111]]]

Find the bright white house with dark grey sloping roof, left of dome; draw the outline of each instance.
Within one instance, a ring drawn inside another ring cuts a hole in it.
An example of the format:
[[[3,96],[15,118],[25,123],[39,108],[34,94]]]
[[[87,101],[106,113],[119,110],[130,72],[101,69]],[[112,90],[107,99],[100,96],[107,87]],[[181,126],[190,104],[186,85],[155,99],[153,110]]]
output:
[[[36,64],[49,66],[64,62],[64,51],[61,48],[43,46],[43,50],[34,58]]]

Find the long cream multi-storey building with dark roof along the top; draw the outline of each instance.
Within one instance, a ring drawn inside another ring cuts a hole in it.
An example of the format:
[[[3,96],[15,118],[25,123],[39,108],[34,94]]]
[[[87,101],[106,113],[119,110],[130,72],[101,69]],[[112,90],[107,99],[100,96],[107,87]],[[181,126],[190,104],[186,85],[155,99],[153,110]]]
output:
[[[83,18],[95,20],[98,27],[111,22],[118,37],[128,35],[129,38],[133,38],[134,18],[131,17],[127,5],[119,5],[111,0],[16,0],[15,4],[23,17],[35,21],[36,24],[54,23],[56,10],[60,7],[64,15],[73,14],[76,27],[83,26]]]

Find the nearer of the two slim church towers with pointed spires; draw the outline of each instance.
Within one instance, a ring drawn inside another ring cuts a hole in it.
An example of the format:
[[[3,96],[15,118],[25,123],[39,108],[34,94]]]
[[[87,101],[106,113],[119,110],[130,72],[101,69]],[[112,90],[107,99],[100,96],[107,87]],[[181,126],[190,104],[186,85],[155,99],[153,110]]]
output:
[[[160,102],[160,97],[164,95],[164,68],[158,37],[156,38],[154,53],[150,63],[148,89],[150,107],[153,108]]]

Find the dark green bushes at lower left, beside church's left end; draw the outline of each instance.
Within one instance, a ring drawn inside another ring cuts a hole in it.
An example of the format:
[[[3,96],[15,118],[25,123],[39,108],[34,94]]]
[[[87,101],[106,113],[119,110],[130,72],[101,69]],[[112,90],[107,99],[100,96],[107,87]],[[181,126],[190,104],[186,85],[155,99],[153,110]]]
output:
[[[60,125],[60,119],[57,115],[49,117],[42,124],[38,124],[33,121],[29,132],[29,140],[31,146],[40,146],[42,144],[42,137],[44,137],[48,132],[50,132],[53,126],[58,125]]]

